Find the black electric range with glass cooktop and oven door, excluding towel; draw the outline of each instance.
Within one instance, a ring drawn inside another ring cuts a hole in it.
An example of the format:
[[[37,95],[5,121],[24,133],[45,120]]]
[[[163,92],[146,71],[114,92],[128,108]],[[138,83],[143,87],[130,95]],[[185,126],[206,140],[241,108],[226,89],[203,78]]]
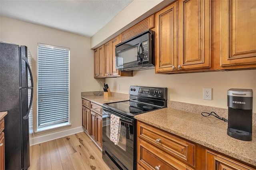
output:
[[[110,169],[136,169],[136,119],[134,115],[167,105],[167,88],[130,86],[130,100],[102,106],[102,158]],[[110,115],[120,117],[120,139],[110,141]]]

